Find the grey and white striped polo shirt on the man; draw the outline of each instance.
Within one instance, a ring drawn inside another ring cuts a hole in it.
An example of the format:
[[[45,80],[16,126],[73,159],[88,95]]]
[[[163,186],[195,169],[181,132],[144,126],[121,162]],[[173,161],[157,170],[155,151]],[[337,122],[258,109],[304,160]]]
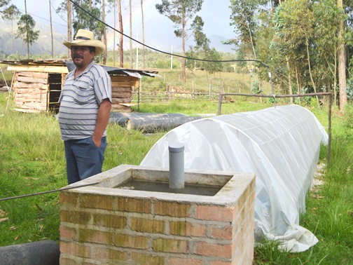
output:
[[[59,98],[62,140],[92,136],[100,103],[106,98],[111,102],[111,79],[103,67],[92,61],[76,79],[75,71],[67,74]],[[106,130],[103,136],[106,136]]]

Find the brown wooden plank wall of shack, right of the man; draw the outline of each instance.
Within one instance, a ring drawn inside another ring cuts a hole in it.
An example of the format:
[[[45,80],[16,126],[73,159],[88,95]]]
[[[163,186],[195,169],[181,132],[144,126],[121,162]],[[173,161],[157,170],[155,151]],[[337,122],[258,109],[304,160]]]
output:
[[[139,79],[133,76],[111,76],[111,109],[130,111],[132,87],[139,86]]]

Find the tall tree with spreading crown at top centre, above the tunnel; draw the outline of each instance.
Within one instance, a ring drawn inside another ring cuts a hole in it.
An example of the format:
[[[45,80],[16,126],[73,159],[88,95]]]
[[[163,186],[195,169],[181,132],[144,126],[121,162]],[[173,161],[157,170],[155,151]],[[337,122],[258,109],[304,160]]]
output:
[[[174,34],[181,38],[183,55],[183,82],[186,82],[186,60],[185,60],[185,42],[187,38],[186,24],[202,8],[203,0],[162,0],[162,4],[156,4],[158,12],[172,20],[177,29]]]

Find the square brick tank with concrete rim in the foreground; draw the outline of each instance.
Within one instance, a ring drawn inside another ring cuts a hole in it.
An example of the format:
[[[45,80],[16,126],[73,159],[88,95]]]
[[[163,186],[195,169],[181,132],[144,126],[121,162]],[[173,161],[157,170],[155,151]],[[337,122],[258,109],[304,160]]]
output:
[[[185,172],[186,183],[223,182],[215,196],[114,189],[153,175],[130,165],[71,184],[99,183],[60,193],[60,264],[251,264],[255,176],[233,174]]]

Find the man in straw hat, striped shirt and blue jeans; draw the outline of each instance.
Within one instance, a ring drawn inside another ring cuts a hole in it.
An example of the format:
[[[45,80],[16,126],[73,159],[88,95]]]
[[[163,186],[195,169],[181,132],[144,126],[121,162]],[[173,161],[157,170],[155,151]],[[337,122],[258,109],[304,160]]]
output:
[[[92,32],[78,29],[76,39],[63,41],[76,69],[69,72],[60,95],[59,124],[67,160],[67,181],[78,182],[102,172],[106,125],[111,110],[111,79],[94,61],[104,52]]]

